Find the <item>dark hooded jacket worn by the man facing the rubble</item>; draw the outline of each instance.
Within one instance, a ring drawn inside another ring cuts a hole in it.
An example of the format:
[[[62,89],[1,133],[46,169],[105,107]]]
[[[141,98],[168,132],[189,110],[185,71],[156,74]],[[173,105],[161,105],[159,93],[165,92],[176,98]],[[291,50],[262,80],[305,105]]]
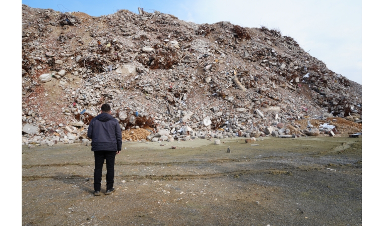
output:
[[[107,113],[90,121],[88,137],[92,139],[92,151],[121,151],[121,129],[118,121]]]

